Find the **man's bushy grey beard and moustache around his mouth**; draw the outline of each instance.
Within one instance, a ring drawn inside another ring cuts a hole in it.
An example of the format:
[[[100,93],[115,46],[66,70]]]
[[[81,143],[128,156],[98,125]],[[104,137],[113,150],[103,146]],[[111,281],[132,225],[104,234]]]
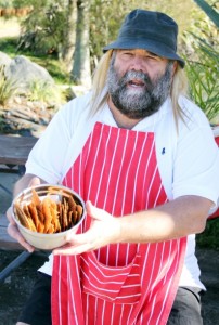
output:
[[[142,72],[129,70],[120,79],[112,61],[107,74],[107,90],[116,108],[129,118],[139,119],[157,112],[170,93],[173,63],[167,64],[164,75],[154,81]],[[128,82],[139,79],[144,83],[142,89],[129,89]]]

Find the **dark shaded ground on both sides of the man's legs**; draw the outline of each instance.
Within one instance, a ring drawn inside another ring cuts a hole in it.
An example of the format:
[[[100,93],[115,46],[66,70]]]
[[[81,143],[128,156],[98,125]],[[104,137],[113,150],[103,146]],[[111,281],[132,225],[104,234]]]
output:
[[[18,252],[0,250],[0,271],[17,255]],[[202,297],[204,325],[218,325],[219,252],[198,249],[197,256],[203,272],[202,280],[207,287],[207,292]],[[34,286],[36,269],[46,260],[46,255],[34,253],[3,283],[0,283],[0,324],[15,325],[21,309]]]

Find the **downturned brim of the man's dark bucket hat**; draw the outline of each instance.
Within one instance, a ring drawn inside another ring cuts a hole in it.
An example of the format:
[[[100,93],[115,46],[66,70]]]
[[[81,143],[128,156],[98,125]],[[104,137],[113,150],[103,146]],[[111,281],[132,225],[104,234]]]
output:
[[[105,53],[108,50],[132,50],[132,49],[143,49],[146,51],[150,51],[152,53],[155,53],[158,56],[163,56],[169,60],[176,60],[179,62],[180,66],[183,68],[185,65],[185,62],[182,57],[180,57],[177,53],[175,53],[171,49],[169,49],[168,47],[160,44],[160,43],[156,43],[156,41],[144,41],[142,42],[141,40],[138,41],[138,39],[136,39],[133,42],[130,42],[130,40],[127,40],[127,42],[125,40],[120,41],[115,41],[110,43],[108,46],[103,48],[103,52]]]

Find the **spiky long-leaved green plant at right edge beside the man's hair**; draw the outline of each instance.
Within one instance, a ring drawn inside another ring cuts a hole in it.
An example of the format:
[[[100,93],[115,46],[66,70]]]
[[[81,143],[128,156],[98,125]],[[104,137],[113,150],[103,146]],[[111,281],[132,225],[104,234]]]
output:
[[[191,96],[214,122],[219,115],[218,29],[208,16],[196,18],[190,31],[184,34],[184,43],[189,49],[184,52]]]

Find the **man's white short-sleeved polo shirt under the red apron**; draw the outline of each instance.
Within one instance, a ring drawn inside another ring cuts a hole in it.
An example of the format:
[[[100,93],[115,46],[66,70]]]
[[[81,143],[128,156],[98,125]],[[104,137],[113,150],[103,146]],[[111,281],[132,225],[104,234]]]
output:
[[[30,152],[27,173],[36,174],[48,183],[62,183],[95,122],[117,127],[107,104],[90,116],[90,98],[91,93],[76,98],[57,112]],[[179,104],[184,112],[184,121],[179,120],[178,131],[170,98],[157,113],[141,120],[132,130],[155,133],[157,164],[169,200],[183,195],[198,195],[217,205],[219,151],[209,122],[188,99],[181,96]],[[40,271],[51,274],[51,260]],[[188,239],[180,286],[204,288],[199,282],[194,235]]]

